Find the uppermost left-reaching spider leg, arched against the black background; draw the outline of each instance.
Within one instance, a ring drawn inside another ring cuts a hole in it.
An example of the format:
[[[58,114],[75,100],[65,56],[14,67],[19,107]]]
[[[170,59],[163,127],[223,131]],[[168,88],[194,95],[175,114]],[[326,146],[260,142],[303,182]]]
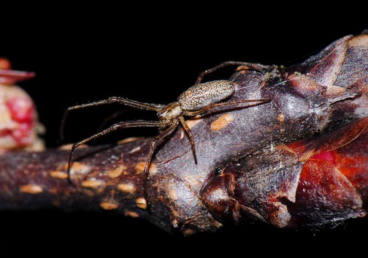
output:
[[[150,104],[150,103],[140,103],[138,101],[135,100],[128,100],[127,98],[121,98],[121,97],[111,97],[111,98],[107,98],[105,100],[100,100],[100,101],[96,101],[96,102],[92,102],[92,103],[88,103],[88,104],[82,104],[82,105],[76,105],[73,107],[68,107],[68,109],[65,110],[64,115],[63,115],[63,120],[61,120],[61,126],[60,126],[60,139],[61,141],[63,141],[64,135],[64,128],[65,128],[65,120],[69,114],[70,111],[75,110],[75,109],[83,109],[85,107],[95,107],[95,106],[99,106],[99,105],[107,105],[107,104],[112,104],[112,103],[119,103],[122,105],[127,105],[130,107],[134,107],[136,109],[146,109],[146,110],[153,110],[153,111],[159,111],[161,109],[163,109],[163,107],[165,107],[165,105],[159,105],[159,104]]]

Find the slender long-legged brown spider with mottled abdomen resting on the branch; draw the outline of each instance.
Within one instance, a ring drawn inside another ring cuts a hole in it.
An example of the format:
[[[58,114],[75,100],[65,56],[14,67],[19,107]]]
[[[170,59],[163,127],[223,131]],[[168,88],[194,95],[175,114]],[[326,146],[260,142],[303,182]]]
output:
[[[189,136],[194,162],[197,164],[194,136],[190,128],[187,126],[187,123],[185,122],[185,117],[201,115],[214,107],[224,107],[249,102],[259,102],[258,104],[269,102],[268,99],[235,100],[229,102],[221,102],[221,100],[229,98],[234,94],[235,92],[234,83],[232,83],[232,81],[230,80],[213,80],[207,83],[201,83],[201,81],[205,75],[210,74],[216,71],[217,69],[220,69],[221,67],[225,67],[227,65],[243,65],[247,67],[247,69],[254,69],[259,72],[265,72],[265,70],[267,71],[273,68],[273,66],[258,65],[254,63],[246,63],[238,61],[227,61],[221,63],[220,65],[217,65],[215,67],[212,67],[211,69],[207,69],[204,72],[202,72],[196,79],[196,83],[194,84],[194,86],[190,87],[180,96],[178,96],[178,100],[176,102],[168,105],[140,103],[138,101],[129,100],[127,98],[110,97],[108,99],[96,101],[93,103],[68,107],[68,109],[65,110],[63,120],[61,122],[61,139],[63,139],[63,128],[65,126],[65,119],[68,116],[68,113],[74,109],[82,109],[85,107],[94,107],[97,105],[119,103],[122,105],[134,107],[136,109],[146,109],[156,111],[157,116],[159,118],[159,120],[157,121],[136,120],[136,121],[118,122],[108,127],[108,129],[105,129],[88,138],[85,138],[84,140],[74,143],[72,145],[72,148],[70,149],[70,155],[68,160],[68,180],[72,182],[70,178],[70,168],[72,165],[72,156],[74,150],[81,144],[90,142],[91,140],[99,138],[112,131],[116,131],[117,129],[127,127],[158,127],[159,135],[152,140],[152,143],[150,145],[150,151],[147,154],[147,158],[145,160],[145,167],[143,170],[143,193],[145,195],[147,204],[150,205],[147,199],[147,180],[149,179],[148,171],[151,164],[152,156],[154,155],[154,152],[156,151],[156,147],[159,144],[159,142],[167,138],[167,136],[170,136],[170,134],[174,132],[174,130],[176,129],[176,127],[178,127],[178,125],[182,125],[185,131],[187,132],[187,136]]]

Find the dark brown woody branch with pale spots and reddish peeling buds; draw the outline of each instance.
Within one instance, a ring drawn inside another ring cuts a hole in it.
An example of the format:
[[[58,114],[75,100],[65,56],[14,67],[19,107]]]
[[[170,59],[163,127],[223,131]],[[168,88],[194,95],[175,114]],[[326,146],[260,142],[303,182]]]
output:
[[[78,149],[74,184],[65,173],[67,150],[1,155],[0,208],[102,208],[185,234],[247,219],[302,227],[362,217],[368,197],[367,56],[363,33],[300,65],[267,74],[238,69],[231,100],[272,101],[188,121],[198,164],[178,129],[152,161],[150,212],[142,191],[150,138]],[[358,161],[346,166],[349,159]]]

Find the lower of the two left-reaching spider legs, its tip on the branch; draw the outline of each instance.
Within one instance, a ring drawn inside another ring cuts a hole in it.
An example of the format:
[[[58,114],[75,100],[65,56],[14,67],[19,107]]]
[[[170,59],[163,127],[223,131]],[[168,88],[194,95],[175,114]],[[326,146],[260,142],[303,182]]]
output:
[[[85,144],[86,142],[89,142],[90,140],[94,140],[96,138],[99,138],[101,136],[104,136],[107,133],[110,133],[112,131],[116,131],[118,129],[122,129],[122,128],[127,128],[127,127],[161,127],[161,123],[157,122],[157,121],[127,121],[127,122],[119,122],[116,123],[115,125],[112,125],[111,127],[109,127],[108,129],[105,129],[103,131],[101,131],[100,133],[96,133],[93,136],[90,136],[88,138],[85,138],[84,140],[81,140],[80,142],[76,142],[73,144],[72,148],[70,148],[70,155],[69,155],[69,160],[68,160],[68,169],[67,169],[67,173],[68,173],[68,180],[71,183],[71,178],[70,178],[70,169],[72,167],[72,157],[73,157],[73,153],[74,150],[79,147],[81,144]]]

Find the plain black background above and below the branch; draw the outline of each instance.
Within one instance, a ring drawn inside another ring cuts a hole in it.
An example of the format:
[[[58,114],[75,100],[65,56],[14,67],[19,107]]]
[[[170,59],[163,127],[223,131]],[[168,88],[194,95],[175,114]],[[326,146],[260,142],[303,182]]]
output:
[[[14,69],[37,73],[21,87],[37,103],[40,120],[47,128],[44,138],[48,147],[60,144],[63,110],[76,103],[109,96],[170,103],[203,69],[223,61],[290,65],[367,27],[365,19],[359,19],[364,18],[357,13],[360,8],[330,13],[318,6],[302,12],[303,8],[297,6],[276,11],[266,4],[258,8],[218,6],[217,11],[209,6],[198,10],[140,5],[60,4],[43,6],[45,10],[39,12],[12,9],[11,15],[4,17],[0,56],[9,58]],[[265,8],[269,12],[265,13]],[[353,14],[352,18],[347,14]],[[227,78],[233,68],[208,79]],[[104,118],[119,108],[92,108],[71,114],[65,132],[67,142],[94,133]],[[121,119],[138,118],[154,118],[154,114],[127,111]],[[154,133],[150,129],[126,130],[99,142]],[[362,248],[356,241],[368,230],[367,219],[355,219],[314,231],[256,224],[184,238],[167,235],[140,219],[108,213],[3,211],[0,221],[2,250],[5,247],[34,254],[47,248],[53,249],[52,253],[70,254],[99,250],[116,251],[122,257],[129,255],[125,249],[131,250],[131,255],[159,252],[170,256],[197,252],[194,248],[203,255],[232,255],[234,251],[250,255],[251,250],[253,255],[276,255],[291,253],[295,247],[303,252],[314,252],[318,247],[351,250]]]

